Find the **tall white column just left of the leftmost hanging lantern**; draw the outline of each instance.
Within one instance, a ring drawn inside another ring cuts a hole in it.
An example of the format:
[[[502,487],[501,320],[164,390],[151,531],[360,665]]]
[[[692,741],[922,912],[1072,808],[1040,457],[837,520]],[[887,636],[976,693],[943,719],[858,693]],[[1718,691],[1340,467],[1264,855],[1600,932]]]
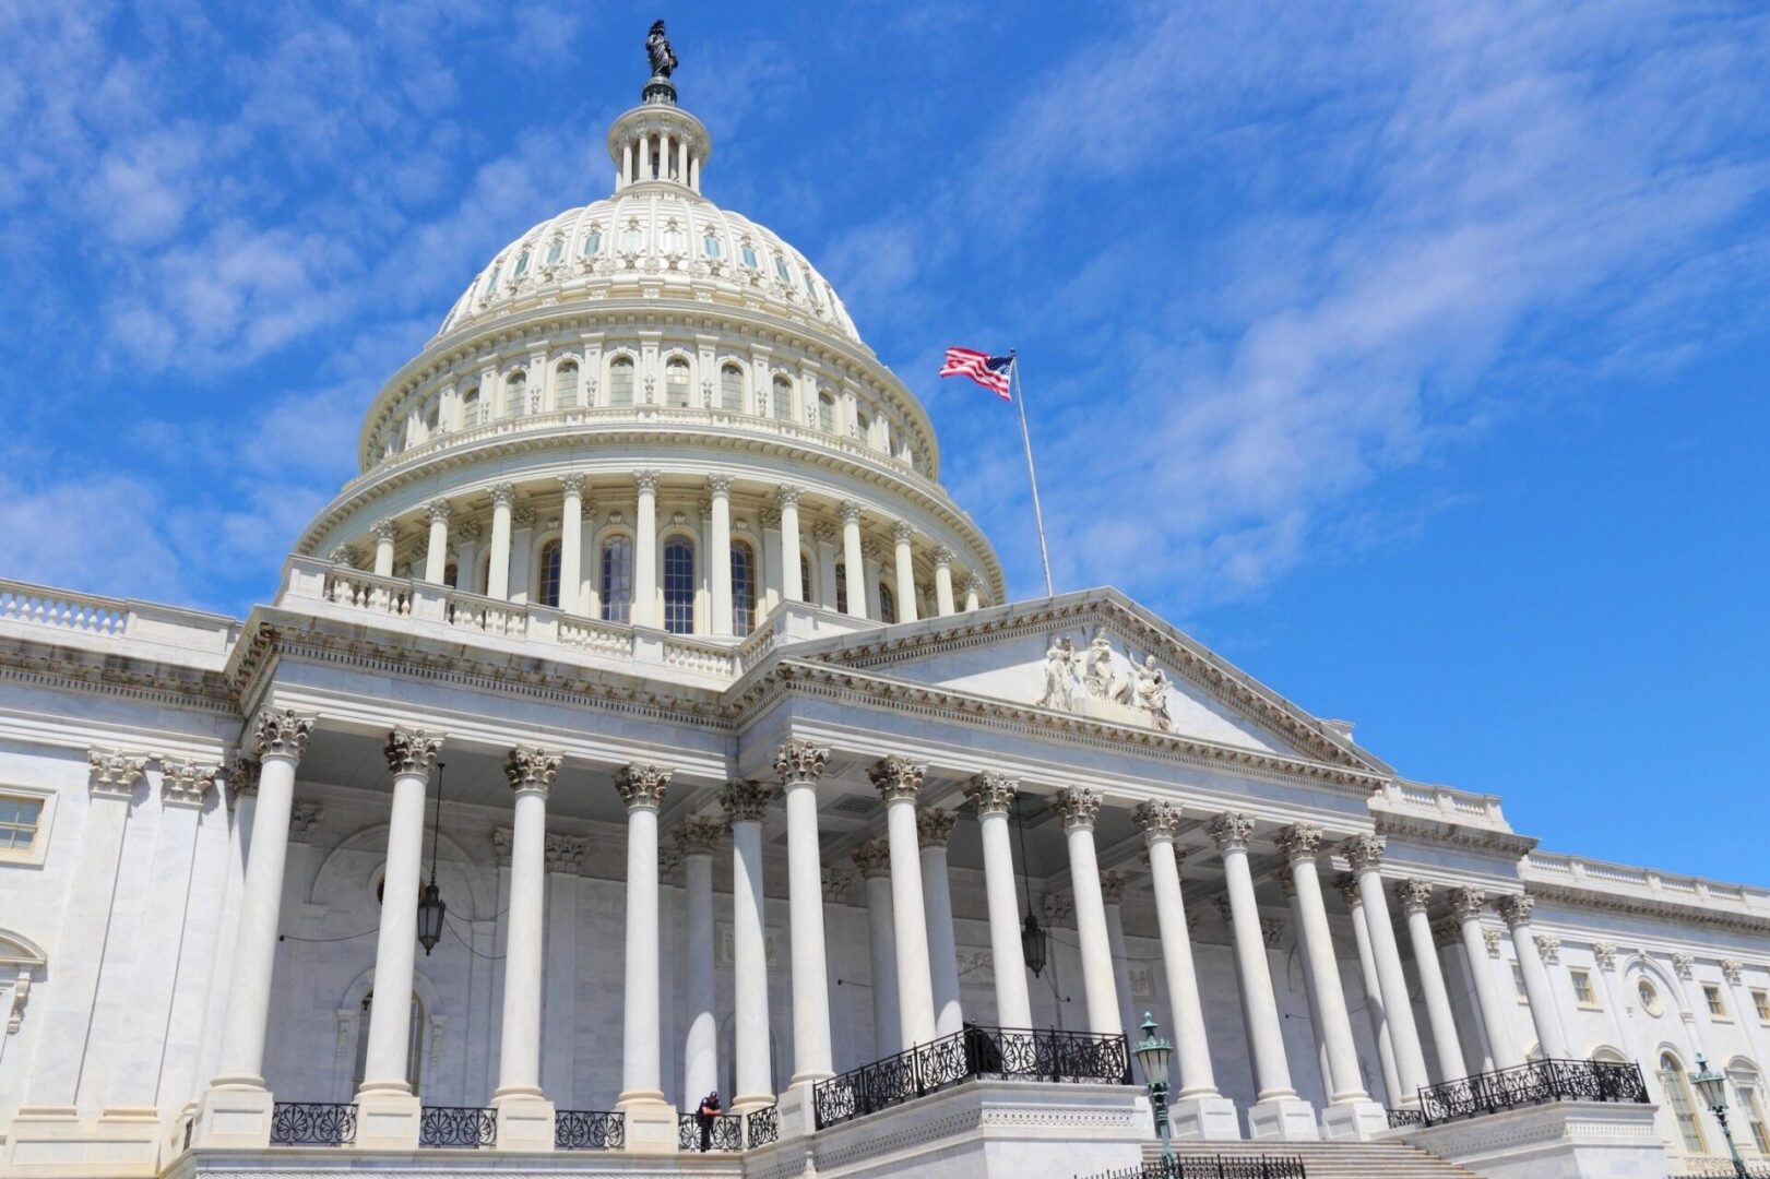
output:
[[[388,871],[381,885],[381,935],[375,938],[375,1002],[368,1009],[368,1052],[356,1090],[356,1145],[418,1145],[418,1094],[411,1064],[412,974],[418,956],[418,885],[425,859],[425,786],[442,736],[425,729],[388,733],[393,800],[388,814]],[[264,786],[258,788],[264,807]],[[260,809],[262,814],[262,809]]]

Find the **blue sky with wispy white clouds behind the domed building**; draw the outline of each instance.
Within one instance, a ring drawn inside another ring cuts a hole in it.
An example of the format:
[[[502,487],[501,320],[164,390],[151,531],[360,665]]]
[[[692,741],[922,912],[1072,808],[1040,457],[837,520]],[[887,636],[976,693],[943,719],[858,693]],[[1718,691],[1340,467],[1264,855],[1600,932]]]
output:
[[[1117,584],[1545,846],[1770,883],[1751,4],[0,0],[0,575],[242,613],[667,16],[1011,586]]]

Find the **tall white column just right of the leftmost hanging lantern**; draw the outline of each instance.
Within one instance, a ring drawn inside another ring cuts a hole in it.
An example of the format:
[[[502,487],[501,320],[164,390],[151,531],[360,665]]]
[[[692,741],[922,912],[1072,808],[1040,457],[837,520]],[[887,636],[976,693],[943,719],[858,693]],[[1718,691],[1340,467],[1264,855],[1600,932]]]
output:
[[[504,759],[510,821],[510,912],[504,931],[504,1006],[497,1041],[497,1144],[550,1151],[554,1106],[542,1092],[542,961],[547,903],[547,791],[559,754],[517,747]]]

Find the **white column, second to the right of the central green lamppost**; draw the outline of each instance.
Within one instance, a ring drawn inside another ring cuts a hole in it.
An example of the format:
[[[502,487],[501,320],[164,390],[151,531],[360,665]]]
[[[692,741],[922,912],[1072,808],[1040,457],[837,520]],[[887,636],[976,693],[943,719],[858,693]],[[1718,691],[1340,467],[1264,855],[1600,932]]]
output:
[[[1248,837],[1253,820],[1225,811],[1211,820],[1205,832],[1223,855],[1223,883],[1228,889],[1230,933],[1235,942],[1235,979],[1241,982],[1243,1018],[1248,1021],[1248,1046],[1253,1055],[1257,1098],[1248,1110],[1251,1138],[1317,1138],[1315,1112],[1290,1085],[1285,1059],[1285,1034],[1278,1021],[1273,974],[1266,961],[1266,936],[1260,931],[1260,903],[1253,894],[1248,869]]]

